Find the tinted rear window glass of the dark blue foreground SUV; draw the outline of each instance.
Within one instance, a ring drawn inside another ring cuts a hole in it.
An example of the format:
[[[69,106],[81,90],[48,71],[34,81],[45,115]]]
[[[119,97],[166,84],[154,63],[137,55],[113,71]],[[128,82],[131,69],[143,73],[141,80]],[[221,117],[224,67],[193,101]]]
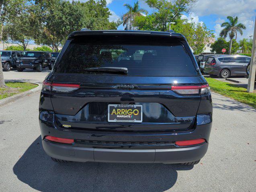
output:
[[[73,74],[113,74],[86,71],[95,67],[125,67],[127,75],[198,75],[184,46],[168,39],[87,38],[73,40],[54,72]]]

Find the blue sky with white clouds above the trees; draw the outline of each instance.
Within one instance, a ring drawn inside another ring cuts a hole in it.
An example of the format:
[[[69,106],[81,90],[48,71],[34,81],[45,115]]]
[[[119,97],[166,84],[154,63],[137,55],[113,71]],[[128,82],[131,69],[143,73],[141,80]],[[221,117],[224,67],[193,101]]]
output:
[[[81,1],[81,0],[80,0]],[[86,0],[83,0],[86,1]],[[127,11],[123,4],[133,4],[137,0],[106,0],[112,16],[109,20],[117,20]],[[150,7],[143,0],[139,0],[141,8],[152,13]],[[243,35],[238,34],[237,40],[248,38],[254,33],[256,16],[256,0],[198,0],[190,14],[184,14],[182,18],[195,23],[204,22],[210,30],[214,30],[215,37],[219,37],[221,23],[227,21],[227,16],[238,16],[238,22],[246,26]],[[123,24],[118,29],[123,29]],[[253,37],[252,37],[253,38]]]

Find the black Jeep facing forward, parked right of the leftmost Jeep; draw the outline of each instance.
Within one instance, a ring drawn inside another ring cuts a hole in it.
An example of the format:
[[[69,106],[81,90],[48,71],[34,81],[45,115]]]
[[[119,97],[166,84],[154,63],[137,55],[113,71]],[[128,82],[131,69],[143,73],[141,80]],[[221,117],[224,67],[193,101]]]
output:
[[[17,60],[16,63],[18,71],[23,71],[27,68],[41,72],[43,68],[48,67],[49,70],[51,70],[53,66],[51,53],[41,51],[28,51],[25,56]]]

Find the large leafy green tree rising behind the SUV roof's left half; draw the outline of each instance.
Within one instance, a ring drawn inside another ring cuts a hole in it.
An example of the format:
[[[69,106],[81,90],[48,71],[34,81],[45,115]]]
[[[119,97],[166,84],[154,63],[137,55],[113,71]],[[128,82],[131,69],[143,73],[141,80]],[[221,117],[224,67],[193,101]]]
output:
[[[106,0],[87,2],[41,0],[33,7],[41,33],[37,35],[37,44],[47,45],[53,51],[63,44],[71,32],[81,28],[91,30],[117,29],[120,22],[109,22],[111,15]],[[42,11],[43,10],[43,11]]]

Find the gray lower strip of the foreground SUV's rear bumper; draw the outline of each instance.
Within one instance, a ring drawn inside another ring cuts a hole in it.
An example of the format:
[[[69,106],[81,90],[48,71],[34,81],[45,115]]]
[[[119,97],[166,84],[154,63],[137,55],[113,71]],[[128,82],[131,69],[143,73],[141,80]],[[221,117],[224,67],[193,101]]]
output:
[[[208,148],[208,143],[205,143],[178,149],[120,150],[65,146],[45,140],[42,142],[47,155],[75,162],[184,163],[201,159]]]

